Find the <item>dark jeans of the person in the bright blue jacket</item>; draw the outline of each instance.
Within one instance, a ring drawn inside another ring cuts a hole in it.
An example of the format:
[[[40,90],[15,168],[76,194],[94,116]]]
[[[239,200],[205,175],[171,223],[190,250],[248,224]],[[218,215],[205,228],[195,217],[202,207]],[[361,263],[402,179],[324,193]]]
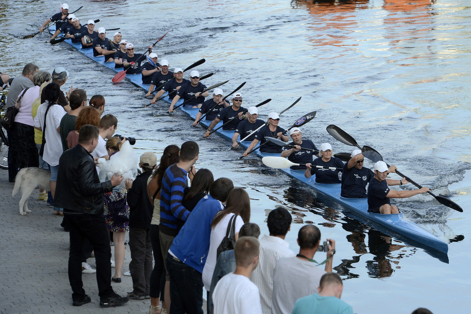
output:
[[[203,314],[203,277],[199,271],[167,254],[170,314]]]

